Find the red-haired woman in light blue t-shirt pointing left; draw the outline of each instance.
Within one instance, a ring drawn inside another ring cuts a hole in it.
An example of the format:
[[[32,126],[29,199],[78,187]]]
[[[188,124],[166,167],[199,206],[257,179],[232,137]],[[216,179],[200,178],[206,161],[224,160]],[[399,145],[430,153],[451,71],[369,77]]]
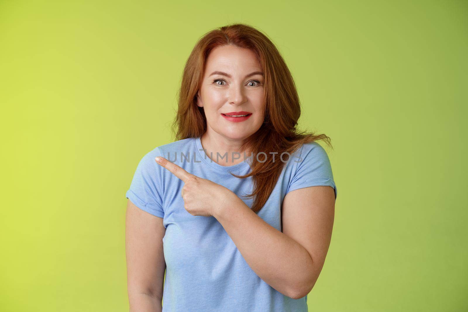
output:
[[[315,142],[329,138],[299,133],[299,116],[263,33],[234,24],[197,42],[176,141],[143,157],[126,193],[131,311],[161,311],[161,299],[162,311],[307,311],[336,185]]]

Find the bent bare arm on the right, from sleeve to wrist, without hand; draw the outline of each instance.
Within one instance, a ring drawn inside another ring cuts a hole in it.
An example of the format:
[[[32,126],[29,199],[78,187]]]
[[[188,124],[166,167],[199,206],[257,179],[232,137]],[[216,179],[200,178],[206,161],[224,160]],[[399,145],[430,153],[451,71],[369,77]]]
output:
[[[266,223],[241,200],[214,217],[250,268],[285,296],[299,299],[314,287],[328,252],[335,193],[329,186],[296,189],[283,200],[283,232]]]

